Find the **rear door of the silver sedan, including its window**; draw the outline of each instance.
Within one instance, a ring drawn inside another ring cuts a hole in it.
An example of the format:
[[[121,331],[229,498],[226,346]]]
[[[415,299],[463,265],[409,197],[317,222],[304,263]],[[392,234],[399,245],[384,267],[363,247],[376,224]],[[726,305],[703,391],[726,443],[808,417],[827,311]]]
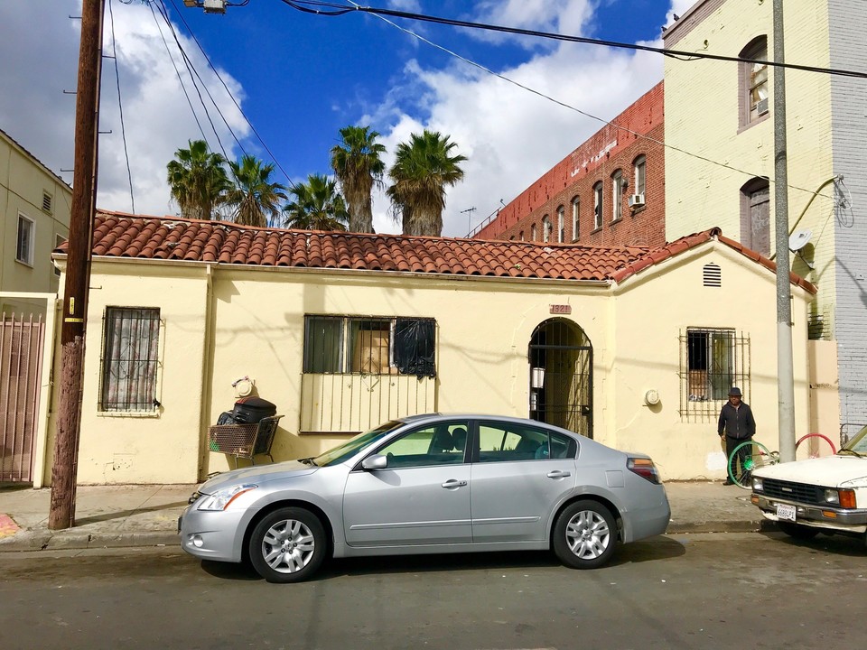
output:
[[[577,444],[555,433],[549,441],[544,429],[484,421],[476,440],[473,543],[544,540],[555,507],[575,487]]]

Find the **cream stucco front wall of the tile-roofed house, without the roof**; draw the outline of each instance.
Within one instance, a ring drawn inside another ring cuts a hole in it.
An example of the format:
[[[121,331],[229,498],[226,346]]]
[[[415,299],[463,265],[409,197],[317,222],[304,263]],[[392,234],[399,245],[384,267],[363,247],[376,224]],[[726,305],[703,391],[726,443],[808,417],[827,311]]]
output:
[[[700,285],[706,261],[721,265],[722,290]],[[601,283],[115,259],[95,262],[91,286],[81,484],[186,483],[232,467],[230,457],[209,450],[207,432],[234,404],[231,383],[242,376],[253,379],[256,393],[284,415],[275,460],[310,456],[345,440],[350,432],[300,433],[305,314],[433,317],[436,401],[426,410],[526,417],[527,346],[536,327],[554,317],[551,305],[567,304],[572,313],[556,317],[582,328],[593,348],[594,438],[650,453],[669,479],[724,476],[715,418],[695,422],[678,413],[680,331],[688,326],[744,330],[752,342],[749,398],[760,422],[759,439],[777,447],[776,355],[767,344],[776,337],[774,277],[722,244],[658,263],[616,291]],[[750,287],[739,292],[741,311],[720,309],[730,286]],[[797,287],[793,291],[797,421],[806,422],[806,296]],[[98,413],[108,306],[160,309],[156,413]],[[651,387],[662,396],[655,408],[642,404]],[[46,477],[55,427],[52,417],[51,440],[40,443]]]

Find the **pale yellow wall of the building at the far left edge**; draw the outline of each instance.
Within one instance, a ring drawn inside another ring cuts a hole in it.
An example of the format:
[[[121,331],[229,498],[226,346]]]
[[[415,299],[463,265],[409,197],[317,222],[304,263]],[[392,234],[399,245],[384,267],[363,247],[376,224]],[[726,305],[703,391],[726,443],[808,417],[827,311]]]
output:
[[[51,194],[51,211],[42,209],[42,193]],[[72,190],[30,153],[0,131],[0,291],[57,292],[51,264],[56,237],[69,237]],[[33,265],[15,259],[18,215],[33,221]],[[0,311],[41,313],[44,301],[0,300]]]

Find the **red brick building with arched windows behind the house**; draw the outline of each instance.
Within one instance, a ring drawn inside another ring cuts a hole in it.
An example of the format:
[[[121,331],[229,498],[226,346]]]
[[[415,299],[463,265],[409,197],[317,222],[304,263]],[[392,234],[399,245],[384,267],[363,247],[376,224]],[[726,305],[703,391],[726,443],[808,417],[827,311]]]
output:
[[[591,246],[666,242],[663,82],[566,156],[474,236]]]

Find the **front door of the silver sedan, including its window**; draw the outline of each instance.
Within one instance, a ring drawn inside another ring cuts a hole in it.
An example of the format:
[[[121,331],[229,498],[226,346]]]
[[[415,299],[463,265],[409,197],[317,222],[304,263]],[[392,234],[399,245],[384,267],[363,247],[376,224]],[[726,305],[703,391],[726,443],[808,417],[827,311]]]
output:
[[[343,495],[346,543],[471,543],[465,433],[466,422],[426,426],[377,450],[386,469],[351,471]]]

